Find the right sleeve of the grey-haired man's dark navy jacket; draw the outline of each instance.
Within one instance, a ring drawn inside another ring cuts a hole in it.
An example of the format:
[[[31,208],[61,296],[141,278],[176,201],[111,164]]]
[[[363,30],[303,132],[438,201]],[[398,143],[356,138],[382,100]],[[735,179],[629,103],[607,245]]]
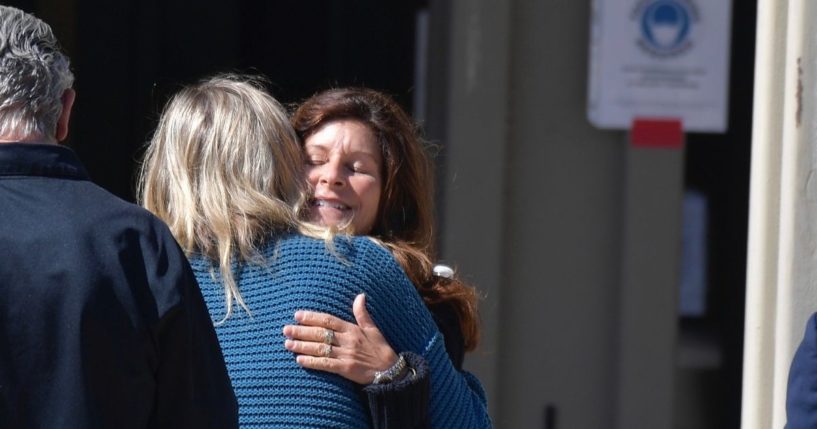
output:
[[[162,237],[162,236],[160,236]],[[148,265],[157,297],[156,427],[235,428],[238,406],[204,299],[170,233]]]

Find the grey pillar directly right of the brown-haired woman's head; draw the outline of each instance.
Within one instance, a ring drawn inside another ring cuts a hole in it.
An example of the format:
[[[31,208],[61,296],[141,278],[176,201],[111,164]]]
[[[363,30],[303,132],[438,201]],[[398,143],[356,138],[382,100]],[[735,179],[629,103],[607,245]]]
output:
[[[455,0],[449,33],[445,176],[440,183],[444,260],[484,292],[482,345],[466,365],[496,409],[497,338],[504,249],[510,2]],[[433,95],[432,95],[433,97]]]

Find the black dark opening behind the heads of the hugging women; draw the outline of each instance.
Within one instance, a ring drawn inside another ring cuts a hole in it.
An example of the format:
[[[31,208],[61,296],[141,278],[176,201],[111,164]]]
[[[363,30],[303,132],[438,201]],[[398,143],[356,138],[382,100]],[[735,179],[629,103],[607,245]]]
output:
[[[93,180],[133,200],[134,172],[168,96],[219,72],[263,74],[282,103],[364,85],[412,108],[415,20],[424,2],[28,0],[72,59],[68,142]]]

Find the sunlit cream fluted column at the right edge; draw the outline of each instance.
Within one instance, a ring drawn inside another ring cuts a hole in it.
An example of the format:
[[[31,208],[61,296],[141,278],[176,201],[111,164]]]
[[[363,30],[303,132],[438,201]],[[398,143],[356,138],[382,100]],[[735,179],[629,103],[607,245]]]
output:
[[[817,309],[817,7],[760,0],[742,427],[786,422],[786,382]]]

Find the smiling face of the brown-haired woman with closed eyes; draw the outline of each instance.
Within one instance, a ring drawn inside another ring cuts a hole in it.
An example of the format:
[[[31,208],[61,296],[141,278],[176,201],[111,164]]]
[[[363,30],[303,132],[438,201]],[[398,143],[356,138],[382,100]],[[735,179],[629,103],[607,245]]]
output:
[[[383,159],[372,130],[356,120],[326,123],[306,138],[306,175],[314,194],[309,221],[368,234],[383,188]]]

